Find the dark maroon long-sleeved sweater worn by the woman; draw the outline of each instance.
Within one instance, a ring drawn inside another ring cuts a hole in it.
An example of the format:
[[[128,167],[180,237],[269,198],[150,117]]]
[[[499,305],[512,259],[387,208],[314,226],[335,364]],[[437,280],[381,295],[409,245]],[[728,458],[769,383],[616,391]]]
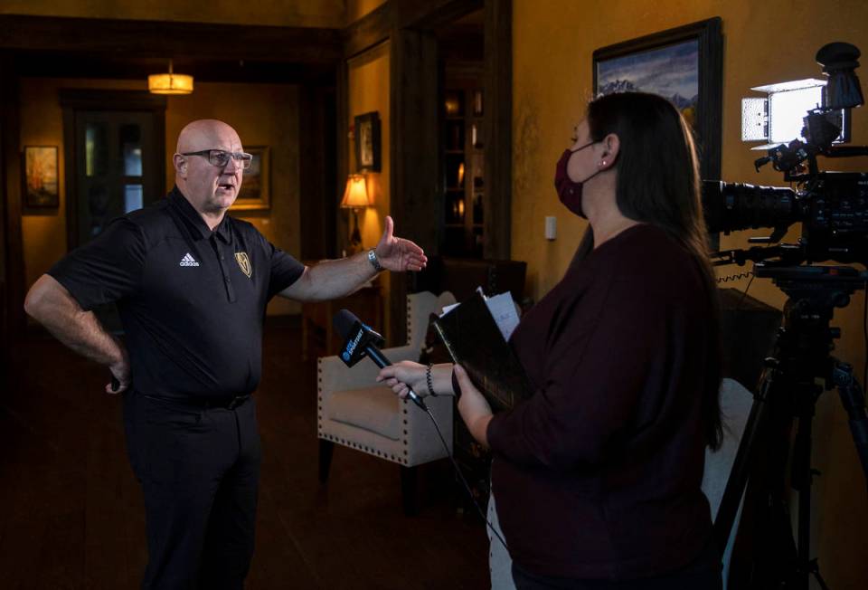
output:
[[[703,550],[706,292],[688,252],[643,224],[574,265],[522,319],[511,344],[535,393],[487,431],[497,515],[520,566],[632,579]]]

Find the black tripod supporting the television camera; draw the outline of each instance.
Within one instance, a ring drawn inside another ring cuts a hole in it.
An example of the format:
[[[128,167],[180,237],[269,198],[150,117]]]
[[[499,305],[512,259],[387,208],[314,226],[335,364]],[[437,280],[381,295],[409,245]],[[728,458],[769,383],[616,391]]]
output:
[[[811,468],[812,419],[819,396],[837,387],[868,480],[863,390],[854,379],[853,367],[830,355],[840,329],[829,327],[834,309],[844,308],[856,290],[864,289],[868,275],[846,266],[758,264],[754,268],[756,276],[771,278],[789,299],[723,492],[714,537],[718,547],[726,547],[743,492],[730,587],[807,590],[810,576],[815,576],[820,587],[827,588],[816,559],[810,557],[810,486],[817,474]],[[824,385],[818,385],[817,379]],[[798,491],[797,538],[793,538],[788,509],[790,457],[789,484]],[[740,556],[750,559],[739,561]]]

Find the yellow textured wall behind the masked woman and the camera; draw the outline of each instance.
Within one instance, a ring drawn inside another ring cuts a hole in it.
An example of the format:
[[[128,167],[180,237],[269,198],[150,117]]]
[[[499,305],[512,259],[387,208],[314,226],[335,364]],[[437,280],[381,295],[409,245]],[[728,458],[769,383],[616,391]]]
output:
[[[542,9],[544,7],[544,9]],[[783,185],[780,175],[754,172],[749,145],[741,143],[741,97],[751,86],[820,74],[816,50],[831,41],[863,50],[863,90],[868,74],[868,3],[863,0],[808,2],[724,2],[721,0],[514,0],[514,157],[512,257],[528,262],[529,287],[539,300],[561,278],[584,230],[584,223],[558,202],[552,188],[554,165],[570,144],[572,126],[591,95],[591,54],[612,43],[721,16],[723,21],[722,176],[729,181]],[[854,111],[855,144],[868,143],[868,109]],[[864,170],[868,158],[834,160],[831,169]],[[558,218],[557,241],[542,235],[543,218]],[[797,228],[796,228],[797,230]],[[761,234],[755,232],[752,234]],[[789,240],[797,237],[791,232]],[[747,233],[731,235],[723,248],[746,245]],[[730,273],[744,269],[724,269]],[[729,283],[744,289],[747,281]],[[784,296],[767,280],[755,280],[750,294],[780,307]],[[844,337],[835,354],[860,371],[865,358],[861,313],[863,293],[835,313]],[[837,394],[817,405],[814,465],[814,555],[826,582],[835,588],[868,587],[863,547],[868,543],[868,502],[844,410]]]

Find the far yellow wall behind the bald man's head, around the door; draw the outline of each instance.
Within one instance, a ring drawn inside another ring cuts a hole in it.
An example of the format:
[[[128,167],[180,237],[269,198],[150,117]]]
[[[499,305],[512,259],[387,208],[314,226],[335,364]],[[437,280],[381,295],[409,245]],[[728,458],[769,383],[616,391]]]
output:
[[[66,253],[66,199],[61,88],[146,90],[144,81],[24,78],[21,83],[21,146],[58,146],[61,205],[22,218],[27,286]],[[232,212],[250,221],[271,243],[300,255],[298,219],[298,91],[296,86],[196,83],[191,96],[168,97],[165,112],[166,190],[174,185],[172,154],[181,128],[193,119],[222,119],[250,146],[271,147],[271,210]],[[293,301],[276,298],[269,314],[298,313]]]

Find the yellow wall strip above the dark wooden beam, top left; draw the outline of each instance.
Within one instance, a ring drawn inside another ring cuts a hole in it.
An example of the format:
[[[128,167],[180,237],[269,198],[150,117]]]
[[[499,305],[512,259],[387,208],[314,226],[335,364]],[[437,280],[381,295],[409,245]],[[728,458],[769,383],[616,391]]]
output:
[[[346,0],[212,0],[204,4],[176,0],[4,0],[0,14],[341,28],[346,20]]]

